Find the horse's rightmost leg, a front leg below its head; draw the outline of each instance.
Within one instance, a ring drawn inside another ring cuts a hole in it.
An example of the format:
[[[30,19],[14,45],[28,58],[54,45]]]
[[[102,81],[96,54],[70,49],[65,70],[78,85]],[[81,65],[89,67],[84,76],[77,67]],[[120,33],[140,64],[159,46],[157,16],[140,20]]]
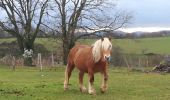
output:
[[[101,92],[104,93],[107,90],[107,80],[108,80],[108,74],[106,71],[102,73],[103,79],[102,79],[102,85],[101,85]]]

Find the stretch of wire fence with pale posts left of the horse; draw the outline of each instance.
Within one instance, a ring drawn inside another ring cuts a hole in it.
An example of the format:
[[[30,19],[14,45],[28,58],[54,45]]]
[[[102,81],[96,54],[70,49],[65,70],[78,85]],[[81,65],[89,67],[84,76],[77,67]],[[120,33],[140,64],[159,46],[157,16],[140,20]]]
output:
[[[13,69],[24,67],[24,58],[8,55],[0,58],[0,65],[11,66]],[[49,56],[43,56],[41,53],[38,53],[37,56],[32,58],[32,67],[40,67],[41,70],[42,68],[58,67],[61,65],[61,56],[54,56],[53,53]]]

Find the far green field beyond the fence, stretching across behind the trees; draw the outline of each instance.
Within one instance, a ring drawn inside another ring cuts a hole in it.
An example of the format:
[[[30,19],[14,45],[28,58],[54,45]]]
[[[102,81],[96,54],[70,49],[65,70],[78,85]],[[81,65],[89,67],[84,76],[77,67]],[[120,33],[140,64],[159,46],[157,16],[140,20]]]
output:
[[[2,42],[14,41],[14,38],[0,39]],[[94,39],[81,39],[78,42],[81,44],[92,44]],[[43,44],[49,51],[57,50],[61,47],[61,41],[53,38],[37,38],[35,43]],[[142,53],[156,53],[156,54],[170,54],[170,37],[159,38],[142,38],[142,39],[112,39],[113,46],[119,46],[123,53],[126,54],[142,54]]]

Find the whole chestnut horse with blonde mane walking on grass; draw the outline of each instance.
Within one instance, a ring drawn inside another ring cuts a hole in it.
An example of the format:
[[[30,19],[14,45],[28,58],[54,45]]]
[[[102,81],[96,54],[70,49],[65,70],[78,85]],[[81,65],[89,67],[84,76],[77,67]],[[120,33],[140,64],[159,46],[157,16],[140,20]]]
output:
[[[68,89],[69,78],[75,67],[79,70],[79,85],[81,92],[96,94],[93,88],[94,73],[100,72],[103,76],[101,92],[107,90],[107,65],[111,58],[112,43],[110,38],[97,40],[93,45],[75,45],[68,54],[67,67],[65,70],[64,90]],[[88,73],[88,90],[83,86],[83,76]]]

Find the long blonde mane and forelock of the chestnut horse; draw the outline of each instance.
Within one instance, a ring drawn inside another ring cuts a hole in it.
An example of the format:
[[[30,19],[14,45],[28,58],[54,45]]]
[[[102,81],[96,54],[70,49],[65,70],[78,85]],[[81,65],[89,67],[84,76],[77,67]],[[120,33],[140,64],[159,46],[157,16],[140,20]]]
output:
[[[107,50],[109,46],[112,48],[112,44],[108,38],[103,38],[103,41],[97,40],[93,45],[92,54],[95,62],[98,62],[102,57],[102,50]]]

